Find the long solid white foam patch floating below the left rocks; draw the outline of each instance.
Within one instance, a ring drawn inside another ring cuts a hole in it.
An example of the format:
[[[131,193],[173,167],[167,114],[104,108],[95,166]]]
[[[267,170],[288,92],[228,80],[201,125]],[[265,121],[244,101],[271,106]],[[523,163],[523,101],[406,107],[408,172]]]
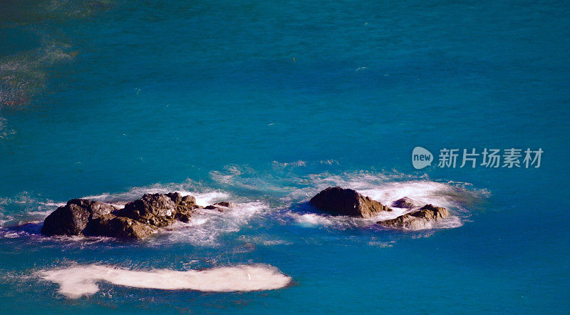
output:
[[[268,265],[239,265],[181,272],[170,269],[130,270],[90,264],[48,270],[39,276],[59,284],[58,292],[70,299],[95,294],[99,291],[97,282],[100,281],[134,288],[210,292],[273,290],[291,283],[291,277]]]

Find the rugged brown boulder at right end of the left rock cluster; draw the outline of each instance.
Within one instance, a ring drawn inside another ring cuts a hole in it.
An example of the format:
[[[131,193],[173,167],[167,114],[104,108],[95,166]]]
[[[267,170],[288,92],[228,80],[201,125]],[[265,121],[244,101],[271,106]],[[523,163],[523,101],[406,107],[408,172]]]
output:
[[[175,219],[178,208],[175,200],[182,200],[180,194],[145,194],[138,200],[128,202],[119,210],[118,216],[129,217],[154,227],[165,227]]]

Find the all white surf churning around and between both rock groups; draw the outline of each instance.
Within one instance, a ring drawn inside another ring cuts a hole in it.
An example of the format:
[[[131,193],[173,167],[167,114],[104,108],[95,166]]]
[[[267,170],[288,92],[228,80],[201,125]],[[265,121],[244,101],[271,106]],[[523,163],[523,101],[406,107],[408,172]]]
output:
[[[319,165],[321,163],[318,163]],[[297,175],[299,168],[311,169],[309,162],[274,162],[273,172],[259,173],[252,168],[232,165],[220,172],[211,172],[213,189],[202,183],[188,180],[183,183],[155,184],[147,187],[133,187],[125,192],[89,195],[84,198],[108,202],[123,207],[126,202],[140,198],[145,193],[180,192],[192,195],[199,205],[230,201],[231,211],[201,210],[188,223],[175,222],[158,232],[158,237],[145,241],[151,246],[172,243],[189,243],[196,246],[217,247],[224,244],[224,236],[239,233],[244,227],[269,228],[275,224],[294,224],[301,227],[330,227],[333,229],[372,228],[383,229],[376,222],[390,220],[410,212],[393,207],[369,219],[331,216],[316,211],[307,201],[317,192],[330,186],[341,186],[357,190],[363,195],[391,205],[401,197],[410,197],[418,207],[432,204],[446,207],[451,216],[445,220],[427,222],[421,229],[442,229],[460,227],[469,220],[472,206],[489,195],[464,182],[438,182],[427,176],[414,177],[401,173],[386,172],[343,172],[340,174],[309,173]],[[23,193],[12,198],[0,199],[0,237],[16,238],[35,235],[36,226],[61,205],[63,201],[41,200]],[[21,229],[6,227],[23,226]],[[233,237],[233,236],[232,236]],[[235,237],[240,237],[235,235]],[[64,241],[85,242],[82,237],[62,237]],[[99,241],[107,239],[101,238]],[[91,238],[88,242],[95,242]],[[285,240],[287,242],[287,240]],[[267,244],[271,244],[268,242]]]

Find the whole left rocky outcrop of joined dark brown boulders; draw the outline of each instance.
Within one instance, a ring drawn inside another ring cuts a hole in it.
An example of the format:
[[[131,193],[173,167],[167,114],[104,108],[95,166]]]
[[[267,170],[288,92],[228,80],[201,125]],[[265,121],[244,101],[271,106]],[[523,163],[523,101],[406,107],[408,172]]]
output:
[[[209,207],[229,209],[231,206],[229,202],[218,202]],[[174,220],[189,222],[192,212],[199,208],[202,207],[196,205],[195,197],[178,192],[146,194],[120,210],[103,202],[73,199],[46,217],[41,234],[142,239]]]

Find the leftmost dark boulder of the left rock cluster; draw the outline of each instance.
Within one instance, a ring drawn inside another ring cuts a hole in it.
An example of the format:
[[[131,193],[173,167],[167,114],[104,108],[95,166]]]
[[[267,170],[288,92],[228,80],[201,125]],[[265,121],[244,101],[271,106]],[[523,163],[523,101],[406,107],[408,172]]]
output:
[[[58,207],[43,221],[41,234],[80,235],[88,222],[116,210],[112,205],[86,199],[72,199]]]

